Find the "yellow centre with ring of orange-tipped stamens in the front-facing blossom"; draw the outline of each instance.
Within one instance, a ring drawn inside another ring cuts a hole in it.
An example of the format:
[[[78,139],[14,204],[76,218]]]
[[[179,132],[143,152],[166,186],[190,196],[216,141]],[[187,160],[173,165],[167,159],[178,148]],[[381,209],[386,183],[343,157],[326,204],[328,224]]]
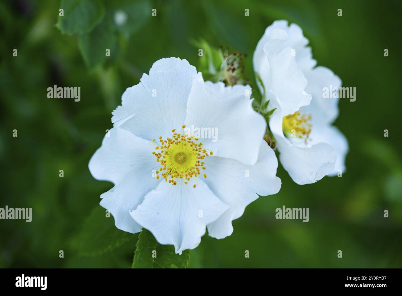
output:
[[[156,156],[156,161],[160,163],[159,170],[156,171],[156,178],[161,176],[166,182],[176,185],[176,178],[186,179],[185,184],[201,175],[201,170],[205,170],[205,161],[203,159],[206,156],[212,155],[212,151],[204,149],[201,142],[194,136],[182,135],[183,125],[180,134],[175,129],[172,130],[172,138],[166,138],[166,140],[159,137],[160,145],[156,146],[156,152],[152,154]],[[156,139],[152,141],[156,145]],[[208,151],[209,154],[208,154]],[[207,178],[206,174],[203,174],[204,178]],[[195,180],[193,187],[195,188],[198,183]]]

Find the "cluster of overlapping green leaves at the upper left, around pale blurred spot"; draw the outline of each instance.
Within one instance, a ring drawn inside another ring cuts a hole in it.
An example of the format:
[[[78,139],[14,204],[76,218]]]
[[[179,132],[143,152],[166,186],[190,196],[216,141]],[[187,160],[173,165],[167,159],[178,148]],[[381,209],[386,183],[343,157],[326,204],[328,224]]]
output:
[[[117,60],[125,41],[151,17],[149,0],[62,0],[56,26],[63,34],[78,35],[78,47],[89,69]],[[108,55],[106,50],[109,50]]]

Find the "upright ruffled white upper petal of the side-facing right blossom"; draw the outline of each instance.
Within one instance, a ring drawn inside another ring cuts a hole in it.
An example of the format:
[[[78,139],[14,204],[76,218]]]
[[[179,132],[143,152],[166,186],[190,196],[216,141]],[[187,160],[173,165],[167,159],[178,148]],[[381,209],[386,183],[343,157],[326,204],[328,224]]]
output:
[[[265,90],[276,93],[283,116],[310,103],[311,96],[304,91],[307,80],[303,71],[314,67],[316,61],[307,44],[308,39],[298,25],[275,21],[267,27],[254,52],[254,71],[261,77]],[[258,86],[263,91],[259,83]]]

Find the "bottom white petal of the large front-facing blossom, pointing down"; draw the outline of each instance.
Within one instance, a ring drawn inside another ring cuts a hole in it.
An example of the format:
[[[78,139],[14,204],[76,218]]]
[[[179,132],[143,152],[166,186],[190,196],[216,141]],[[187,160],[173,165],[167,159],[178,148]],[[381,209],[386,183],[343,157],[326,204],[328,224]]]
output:
[[[198,180],[196,188],[190,182],[185,185],[183,180],[178,180],[176,186],[160,182],[130,213],[160,244],[173,244],[175,252],[181,254],[183,250],[197,247],[206,225],[228,207],[202,180]]]

